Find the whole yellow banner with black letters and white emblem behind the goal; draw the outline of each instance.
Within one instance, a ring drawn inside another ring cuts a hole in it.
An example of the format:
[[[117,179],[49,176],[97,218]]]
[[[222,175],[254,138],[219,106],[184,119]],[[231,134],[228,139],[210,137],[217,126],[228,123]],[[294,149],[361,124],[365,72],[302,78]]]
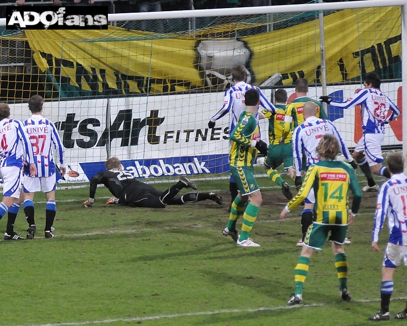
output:
[[[391,77],[401,56],[400,7],[343,10],[325,16],[327,82],[371,71]],[[223,90],[230,68],[243,64],[257,86],[319,82],[319,22],[236,39],[175,37],[127,31],[26,30],[40,70],[56,89],[89,95],[168,94]],[[399,73],[399,71],[397,71]],[[274,76],[275,78],[270,78]],[[65,85],[65,86],[64,86]]]

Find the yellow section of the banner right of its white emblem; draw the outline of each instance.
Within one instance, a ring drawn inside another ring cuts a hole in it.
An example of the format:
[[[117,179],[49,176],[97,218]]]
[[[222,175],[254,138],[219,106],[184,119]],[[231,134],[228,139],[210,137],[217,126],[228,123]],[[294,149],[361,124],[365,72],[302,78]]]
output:
[[[319,20],[315,20],[278,30],[268,33],[267,42],[264,35],[243,38],[253,53],[256,79],[280,72],[287,78],[284,84],[292,85],[295,75],[314,81],[321,64],[318,27]],[[400,7],[348,9],[328,15],[324,33],[328,83],[374,70],[379,73],[377,70],[388,70],[389,65],[400,62]]]

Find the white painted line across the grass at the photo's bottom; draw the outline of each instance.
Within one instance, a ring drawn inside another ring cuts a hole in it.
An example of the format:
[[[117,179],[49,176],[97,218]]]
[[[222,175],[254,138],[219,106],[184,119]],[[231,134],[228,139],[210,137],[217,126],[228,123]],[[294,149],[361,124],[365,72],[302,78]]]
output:
[[[407,297],[398,297],[392,299],[395,300],[406,300]],[[354,300],[354,303],[364,303],[364,302],[378,302],[380,299],[373,300]],[[187,312],[180,314],[170,314],[170,315],[157,315],[157,316],[146,316],[146,317],[134,317],[134,318],[117,318],[117,319],[105,319],[105,320],[93,320],[93,321],[73,321],[73,322],[57,322],[57,323],[48,323],[48,324],[31,324],[31,325],[17,325],[17,326],[65,326],[65,325],[89,325],[89,324],[107,324],[118,321],[143,321],[143,320],[157,320],[163,318],[178,318],[178,317],[193,317],[193,316],[202,316],[202,315],[216,315],[216,314],[230,314],[230,313],[242,313],[242,312],[257,312],[257,311],[273,311],[273,310],[284,310],[284,309],[295,309],[295,308],[309,308],[309,307],[322,307],[330,305],[328,303],[320,304],[309,304],[309,305],[298,305],[298,306],[278,306],[278,307],[260,307],[253,309],[221,309],[215,311],[197,311],[197,312]]]

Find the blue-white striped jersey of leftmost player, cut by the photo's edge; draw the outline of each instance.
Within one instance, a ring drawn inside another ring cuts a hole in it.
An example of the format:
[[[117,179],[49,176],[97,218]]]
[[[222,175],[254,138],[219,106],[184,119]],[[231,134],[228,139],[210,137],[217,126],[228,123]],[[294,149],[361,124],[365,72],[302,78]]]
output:
[[[21,121],[3,119],[0,121],[0,167],[23,167],[26,155],[28,163],[34,163],[30,139]]]

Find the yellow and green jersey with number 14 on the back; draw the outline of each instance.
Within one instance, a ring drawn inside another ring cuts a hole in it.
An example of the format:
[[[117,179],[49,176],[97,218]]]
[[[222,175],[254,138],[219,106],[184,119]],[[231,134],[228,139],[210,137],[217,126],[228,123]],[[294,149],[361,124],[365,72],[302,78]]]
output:
[[[314,189],[314,222],[318,224],[347,225],[349,191],[353,193],[352,211],[359,210],[362,192],[353,168],[339,160],[321,160],[311,164],[302,188],[288,204],[289,209],[300,204]]]

